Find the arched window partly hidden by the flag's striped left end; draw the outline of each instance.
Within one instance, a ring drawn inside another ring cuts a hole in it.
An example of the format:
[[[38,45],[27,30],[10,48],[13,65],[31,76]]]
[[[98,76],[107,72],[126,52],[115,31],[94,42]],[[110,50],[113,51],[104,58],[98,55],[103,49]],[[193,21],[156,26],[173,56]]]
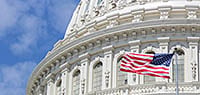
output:
[[[121,58],[117,60],[117,86],[126,85],[128,82],[127,73],[120,71]]]

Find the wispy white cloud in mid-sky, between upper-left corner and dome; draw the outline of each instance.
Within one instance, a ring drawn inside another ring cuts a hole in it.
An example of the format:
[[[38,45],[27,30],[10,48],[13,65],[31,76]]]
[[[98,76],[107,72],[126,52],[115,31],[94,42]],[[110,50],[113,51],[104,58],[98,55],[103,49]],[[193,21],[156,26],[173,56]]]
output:
[[[31,47],[35,46],[38,39],[46,32],[46,22],[37,16],[23,16],[19,23],[23,23],[23,33],[17,37],[15,43],[11,44],[11,50],[16,55],[31,52]]]

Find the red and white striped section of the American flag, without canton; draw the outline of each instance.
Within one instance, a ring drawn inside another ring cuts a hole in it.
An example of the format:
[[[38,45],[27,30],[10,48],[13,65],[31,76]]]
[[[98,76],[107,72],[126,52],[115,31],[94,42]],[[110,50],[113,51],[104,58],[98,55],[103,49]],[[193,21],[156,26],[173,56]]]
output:
[[[121,60],[123,64],[120,65],[123,68],[120,68],[120,70],[123,72],[169,78],[169,68],[167,66],[164,67],[164,65],[151,64],[150,62],[153,61],[153,57],[153,55],[149,54],[125,54],[123,56],[124,59]]]

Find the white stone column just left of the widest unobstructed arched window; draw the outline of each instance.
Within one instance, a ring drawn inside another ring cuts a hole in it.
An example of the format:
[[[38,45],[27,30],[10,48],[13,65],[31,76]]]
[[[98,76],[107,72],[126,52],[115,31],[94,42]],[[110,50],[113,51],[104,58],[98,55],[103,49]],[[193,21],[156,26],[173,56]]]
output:
[[[79,56],[82,60],[81,63],[81,82],[80,82],[80,95],[85,95],[88,92],[88,80],[89,80],[89,54],[83,54]]]

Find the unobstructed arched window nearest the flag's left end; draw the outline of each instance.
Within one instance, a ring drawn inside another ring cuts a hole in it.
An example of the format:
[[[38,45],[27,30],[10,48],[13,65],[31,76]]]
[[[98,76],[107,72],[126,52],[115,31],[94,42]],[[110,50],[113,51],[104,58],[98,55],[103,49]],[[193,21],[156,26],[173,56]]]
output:
[[[102,87],[102,62],[97,63],[93,67],[93,91],[101,90]]]

